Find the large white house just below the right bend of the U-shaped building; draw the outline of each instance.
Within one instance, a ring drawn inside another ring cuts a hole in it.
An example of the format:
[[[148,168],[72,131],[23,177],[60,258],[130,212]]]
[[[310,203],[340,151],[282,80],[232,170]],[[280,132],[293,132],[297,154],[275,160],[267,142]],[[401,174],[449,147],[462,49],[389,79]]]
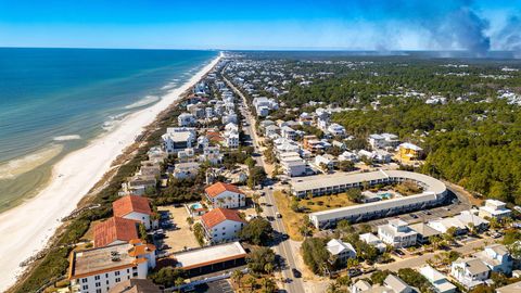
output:
[[[407,222],[401,219],[392,219],[386,225],[378,226],[378,238],[395,249],[416,245],[417,234]]]

